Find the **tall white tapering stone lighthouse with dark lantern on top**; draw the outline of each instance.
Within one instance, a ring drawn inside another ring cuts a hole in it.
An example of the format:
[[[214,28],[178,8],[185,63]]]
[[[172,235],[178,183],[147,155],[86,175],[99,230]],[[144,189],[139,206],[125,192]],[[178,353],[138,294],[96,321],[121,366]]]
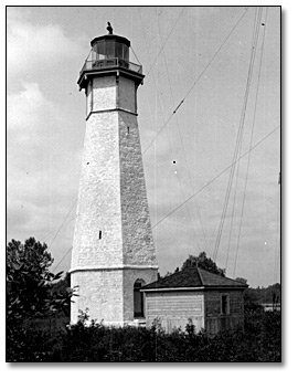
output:
[[[137,122],[141,66],[130,42],[95,38],[78,78],[86,94],[86,135],[75,222],[71,281],[78,286],[71,320],[89,309],[105,324],[139,323],[140,287],[157,280]]]

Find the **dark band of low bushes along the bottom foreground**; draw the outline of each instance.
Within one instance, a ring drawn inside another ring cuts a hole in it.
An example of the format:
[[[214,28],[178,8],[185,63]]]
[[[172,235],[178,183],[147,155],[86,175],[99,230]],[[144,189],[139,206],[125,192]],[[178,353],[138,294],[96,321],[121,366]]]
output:
[[[9,361],[64,362],[256,362],[281,361],[281,324],[278,312],[245,315],[244,330],[209,336],[195,330],[192,320],[185,330],[164,333],[158,319],[151,328],[107,327],[88,320],[43,333],[22,330],[21,345],[8,354]],[[12,358],[13,359],[12,359]]]

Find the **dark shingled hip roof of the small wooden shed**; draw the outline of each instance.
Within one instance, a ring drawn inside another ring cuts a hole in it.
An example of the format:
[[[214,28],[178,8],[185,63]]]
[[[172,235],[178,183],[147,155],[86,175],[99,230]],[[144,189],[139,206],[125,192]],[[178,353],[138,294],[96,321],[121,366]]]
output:
[[[247,285],[241,282],[236,282],[232,278],[210,273],[199,267],[190,267],[181,270],[172,275],[150,283],[141,289],[145,292],[148,289],[168,289],[168,288],[194,288],[194,287],[233,287],[233,288],[246,288]]]

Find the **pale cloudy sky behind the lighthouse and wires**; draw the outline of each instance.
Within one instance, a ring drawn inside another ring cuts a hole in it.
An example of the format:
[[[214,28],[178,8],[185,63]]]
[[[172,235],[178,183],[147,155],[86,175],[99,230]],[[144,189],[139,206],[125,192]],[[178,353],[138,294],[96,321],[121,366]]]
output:
[[[55,271],[70,270],[85,134],[76,82],[89,41],[110,21],[146,75],[138,124],[160,273],[205,251],[251,286],[279,282],[280,13],[264,7],[255,22],[256,14],[255,7],[8,8],[7,240],[34,236]],[[242,126],[240,156],[253,149],[235,166],[215,252]]]

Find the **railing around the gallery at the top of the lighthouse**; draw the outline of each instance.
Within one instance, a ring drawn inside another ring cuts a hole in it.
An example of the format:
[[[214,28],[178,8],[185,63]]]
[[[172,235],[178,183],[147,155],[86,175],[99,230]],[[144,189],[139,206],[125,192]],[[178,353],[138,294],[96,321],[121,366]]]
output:
[[[124,67],[130,71],[134,71],[138,74],[142,73],[142,66],[136,63],[131,63],[119,57],[106,57],[103,60],[95,60],[89,61],[86,60],[84,66],[82,67],[79,75],[83,74],[84,71],[93,71],[93,70],[100,70],[100,69],[111,69],[111,67]]]

